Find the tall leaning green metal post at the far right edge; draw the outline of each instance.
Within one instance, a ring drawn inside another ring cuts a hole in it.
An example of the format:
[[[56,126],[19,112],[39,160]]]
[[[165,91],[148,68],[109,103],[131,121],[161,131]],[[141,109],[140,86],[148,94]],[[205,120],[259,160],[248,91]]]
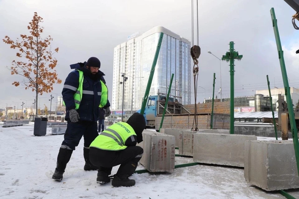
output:
[[[279,59],[279,62],[280,62],[280,69],[281,69],[281,73],[282,73],[282,80],[283,80],[283,85],[284,85],[284,90],[285,90],[285,96],[287,98],[287,109],[288,109],[288,112],[289,112],[291,131],[292,131],[292,137],[293,137],[293,144],[294,144],[296,163],[297,163],[297,170],[298,170],[298,174],[299,174],[298,130],[297,130],[297,127],[296,127],[293,104],[292,104],[292,99],[291,99],[291,95],[290,95],[291,94],[290,93],[290,87],[289,87],[289,82],[287,80],[287,70],[286,70],[286,65],[284,63],[283,51],[282,51],[279,32],[278,32],[278,27],[277,27],[277,20],[276,20],[276,17],[275,17],[275,12],[274,12],[273,7],[271,8],[270,13],[271,13],[272,25],[273,25],[273,30],[274,30],[275,40],[276,40],[276,46],[277,46],[277,51],[278,51],[278,59]]]

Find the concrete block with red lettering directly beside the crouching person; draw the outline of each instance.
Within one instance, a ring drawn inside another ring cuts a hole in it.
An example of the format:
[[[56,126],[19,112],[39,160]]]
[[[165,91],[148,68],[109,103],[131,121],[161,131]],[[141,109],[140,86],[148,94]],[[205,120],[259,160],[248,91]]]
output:
[[[144,130],[143,142],[138,145],[143,148],[140,163],[150,172],[173,172],[175,158],[174,136]]]

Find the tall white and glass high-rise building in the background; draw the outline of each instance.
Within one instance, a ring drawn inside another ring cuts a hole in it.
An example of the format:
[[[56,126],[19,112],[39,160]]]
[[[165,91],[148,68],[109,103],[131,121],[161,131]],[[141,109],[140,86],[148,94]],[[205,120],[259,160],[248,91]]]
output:
[[[191,42],[157,26],[143,34],[128,36],[127,42],[114,48],[112,110],[122,109],[122,73],[128,78],[124,88],[124,111],[141,108],[161,32],[164,36],[149,95],[157,95],[158,89],[167,94],[173,73],[170,94],[181,96],[179,102],[182,104],[191,104]]]

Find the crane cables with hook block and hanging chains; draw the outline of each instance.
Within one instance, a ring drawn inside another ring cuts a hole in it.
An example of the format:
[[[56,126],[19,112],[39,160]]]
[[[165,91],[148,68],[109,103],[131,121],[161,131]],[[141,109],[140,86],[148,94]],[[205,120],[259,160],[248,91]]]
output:
[[[190,49],[190,55],[193,59],[193,78],[194,78],[194,119],[192,124],[191,131],[198,131],[198,118],[197,118],[197,80],[198,80],[198,58],[200,56],[200,47],[199,45],[199,28],[198,28],[198,0],[196,1],[196,10],[197,10],[197,45],[194,45],[194,14],[193,14],[193,0],[191,0],[191,20],[192,20],[192,47]],[[195,66],[196,65],[196,66]],[[195,123],[195,128],[194,128]]]

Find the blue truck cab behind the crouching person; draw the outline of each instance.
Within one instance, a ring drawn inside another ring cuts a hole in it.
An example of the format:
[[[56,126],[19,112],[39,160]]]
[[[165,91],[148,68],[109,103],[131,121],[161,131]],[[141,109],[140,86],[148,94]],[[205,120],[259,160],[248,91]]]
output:
[[[151,95],[148,97],[148,100],[147,100],[147,103],[145,106],[145,111],[144,111],[144,117],[145,117],[147,127],[155,126],[156,116],[158,114],[163,114],[165,102],[166,102],[165,95]],[[168,98],[168,103],[169,102],[173,103],[172,97]],[[140,110],[141,109],[137,110],[136,112],[140,113]],[[168,110],[168,112],[169,112],[169,110]],[[167,114],[167,112],[166,112],[166,114]]]

